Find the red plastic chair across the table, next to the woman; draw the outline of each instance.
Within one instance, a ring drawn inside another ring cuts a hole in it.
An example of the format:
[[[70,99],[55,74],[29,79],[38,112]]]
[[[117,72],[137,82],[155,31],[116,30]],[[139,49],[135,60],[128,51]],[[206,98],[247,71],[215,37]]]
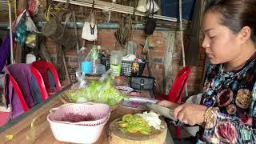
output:
[[[192,66],[185,66],[182,70],[179,70],[178,75],[176,76],[173,85],[171,86],[170,92],[168,95],[156,95],[155,98],[158,100],[168,100],[174,103],[181,103],[182,96],[184,94],[184,89],[186,82],[189,78],[190,71]],[[176,137],[181,138],[181,128],[177,126],[175,128]]]

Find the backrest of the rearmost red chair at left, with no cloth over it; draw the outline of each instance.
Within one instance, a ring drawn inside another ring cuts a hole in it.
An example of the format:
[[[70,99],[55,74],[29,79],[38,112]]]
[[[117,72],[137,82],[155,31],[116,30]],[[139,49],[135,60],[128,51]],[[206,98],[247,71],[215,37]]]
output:
[[[54,87],[61,87],[61,83],[58,79],[58,73],[55,70],[55,67],[50,62],[46,61],[36,61],[31,64],[39,73],[42,75],[43,82],[46,86],[46,90],[50,90],[53,86],[51,86],[51,78],[50,74],[54,77]]]

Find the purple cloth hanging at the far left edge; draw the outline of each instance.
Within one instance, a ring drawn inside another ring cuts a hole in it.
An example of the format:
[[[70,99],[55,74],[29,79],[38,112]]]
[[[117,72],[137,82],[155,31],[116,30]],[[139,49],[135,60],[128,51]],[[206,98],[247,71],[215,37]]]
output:
[[[6,65],[6,60],[9,58],[10,54],[10,33],[6,35],[6,39],[2,42],[0,46],[0,72],[2,72],[3,67]]]

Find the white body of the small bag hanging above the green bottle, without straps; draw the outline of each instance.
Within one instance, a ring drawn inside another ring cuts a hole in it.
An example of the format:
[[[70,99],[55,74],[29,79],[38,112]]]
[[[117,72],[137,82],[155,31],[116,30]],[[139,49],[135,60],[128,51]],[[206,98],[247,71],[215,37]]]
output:
[[[82,38],[87,41],[95,41],[98,38],[98,30],[96,24],[85,22],[82,27]]]

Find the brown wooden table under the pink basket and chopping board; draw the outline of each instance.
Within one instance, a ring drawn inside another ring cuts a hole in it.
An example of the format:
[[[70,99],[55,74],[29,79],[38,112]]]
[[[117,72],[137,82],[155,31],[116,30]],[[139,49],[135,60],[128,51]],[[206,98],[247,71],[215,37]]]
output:
[[[150,91],[141,91],[141,95],[150,98]],[[18,122],[9,122],[4,128],[0,128],[0,143],[36,143],[36,144],[64,144],[66,142],[59,142],[54,138],[50,130],[49,122],[46,120],[49,110],[53,107],[62,105],[58,98],[58,94],[47,100],[33,109],[23,114]],[[142,110],[134,110],[120,106],[111,112],[110,120],[106,123],[102,131],[101,137],[96,144],[108,144],[108,126],[115,118],[122,117],[124,114],[142,113]],[[22,118],[25,117],[25,118]],[[13,136],[13,138],[8,138]],[[166,143],[173,143],[170,132],[168,130],[166,136]]]

